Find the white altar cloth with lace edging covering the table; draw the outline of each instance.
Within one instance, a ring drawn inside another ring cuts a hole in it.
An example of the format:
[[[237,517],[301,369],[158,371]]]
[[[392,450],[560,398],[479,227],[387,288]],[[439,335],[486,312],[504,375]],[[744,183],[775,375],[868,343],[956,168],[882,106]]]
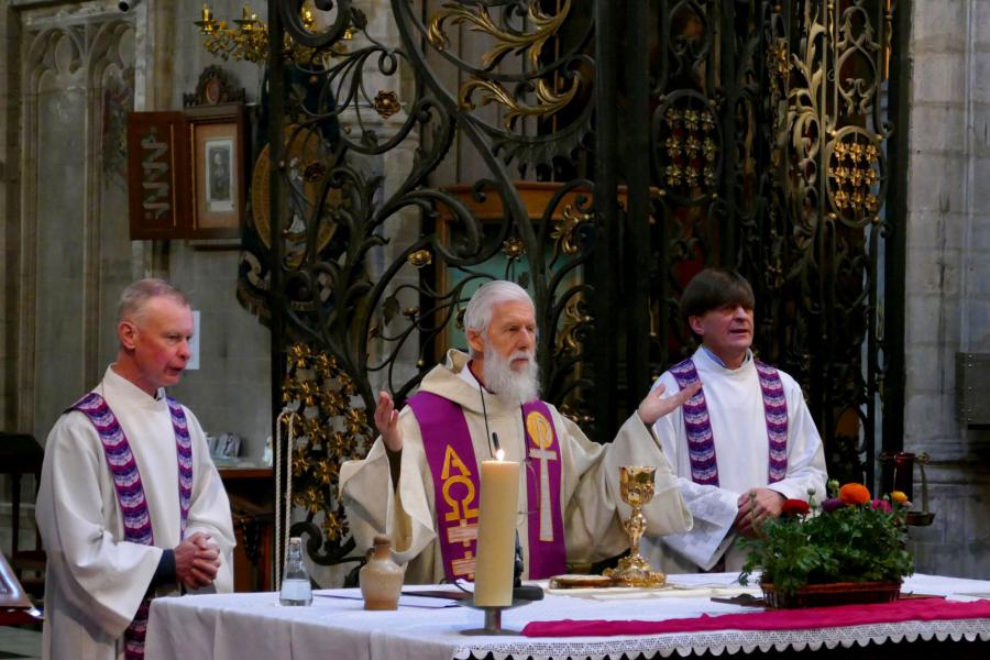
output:
[[[671,575],[683,585],[732,585],[736,573]],[[738,587],[738,585],[736,585]],[[425,587],[426,588],[426,587]],[[436,587],[430,587],[436,588]],[[152,603],[147,630],[148,660],[451,660],[493,652],[519,660],[534,658],[601,659],[645,653],[669,657],[711,651],[714,654],[754,650],[816,650],[850,647],[870,641],[990,640],[990,619],[904,622],[869,626],[844,626],[813,630],[718,630],[637,637],[470,637],[462,630],[481,628],[483,614],[466,607],[425,608],[403,606],[395,612],[366,612],[354,590],[315,592],[311,607],[282,607],[277,593],[198,595],[157,598]],[[348,592],[351,592],[348,594]],[[904,593],[946,595],[955,600],[990,597],[990,582],[914,575]],[[727,592],[732,595],[733,592]],[[738,593],[738,590],[736,590]],[[632,596],[634,594],[630,594]],[[760,610],[714,603],[708,595],[652,595],[590,600],[548,594],[539,601],[503,613],[503,627],[519,630],[531,620],[667,619]]]

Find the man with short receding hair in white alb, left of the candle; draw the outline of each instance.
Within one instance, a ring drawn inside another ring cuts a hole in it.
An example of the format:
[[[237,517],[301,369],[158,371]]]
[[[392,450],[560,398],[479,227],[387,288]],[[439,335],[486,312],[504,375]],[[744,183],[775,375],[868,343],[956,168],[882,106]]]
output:
[[[199,422],[164,389],[189,361],[189,302],[143,279],[118,317],[117,361],[45,443],[46,659],[143,658],[152,597],[233,586],[227,494]]]

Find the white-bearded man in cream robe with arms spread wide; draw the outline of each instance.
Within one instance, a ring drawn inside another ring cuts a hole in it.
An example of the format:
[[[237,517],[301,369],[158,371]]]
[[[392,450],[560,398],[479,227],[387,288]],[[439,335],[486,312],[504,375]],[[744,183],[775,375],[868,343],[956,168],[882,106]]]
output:
[[[363,461],[344,463],[340,493],[360,548],[392,537],[410,583],[473,579],[480,461],[524,463],[517,531],[524,579],[566,572],[568,563],[614,557],[629,547],[619,515],[619,466],[656,465],[657,494],[645,507],[653,535],[683,532],[691,514],[650,427],[692,389],[651,393],[607,446],[588,440],[539,399],[536,316],[525,289],[490,282],[464,316],[470,354],[452,350],[402,411],[381,393],[381,436]]]

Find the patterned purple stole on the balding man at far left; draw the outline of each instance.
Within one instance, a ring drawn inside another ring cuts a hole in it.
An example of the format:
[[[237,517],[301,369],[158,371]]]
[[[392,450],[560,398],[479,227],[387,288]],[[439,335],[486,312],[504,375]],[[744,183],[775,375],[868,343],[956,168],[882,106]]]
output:
[[[170,396],[166,396],[168,410],[172,414],[172,427],[175,429],[175,449],[178,461],[179,509],[183,536],[186,532],[186,518],[189,516],[189,504],[193,499],[193,441],[186,425],[183,407]],[[153,546],[154,531],[147,513],[147,501],[144,498],[144,486],[138,463],[131,452],[131,446],[124,436],[117,417],[99,394],[90,392],[73,404],[72,410],[78,410],[89,418],[100,436],[103,454],[113,477],[113,488],[120,503],[123,518],[124,540],[143,546]],[[148,594],[151,592],[148,591]],[[124,631],[124,657],[128,660],[144,658],[144,636],[147,631],[147,612],[151,596],[145,595],[138,607],[138,613]]]

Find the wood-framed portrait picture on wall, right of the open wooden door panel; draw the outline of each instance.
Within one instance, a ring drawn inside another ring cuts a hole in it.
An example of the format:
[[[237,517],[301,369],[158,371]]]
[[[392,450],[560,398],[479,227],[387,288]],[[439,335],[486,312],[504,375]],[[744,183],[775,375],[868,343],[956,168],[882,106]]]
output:
[[[245,199],[244,106],[230,103],[186,110],[193,182],[189,239],[241,235]]]

